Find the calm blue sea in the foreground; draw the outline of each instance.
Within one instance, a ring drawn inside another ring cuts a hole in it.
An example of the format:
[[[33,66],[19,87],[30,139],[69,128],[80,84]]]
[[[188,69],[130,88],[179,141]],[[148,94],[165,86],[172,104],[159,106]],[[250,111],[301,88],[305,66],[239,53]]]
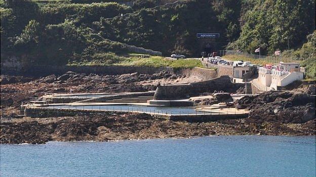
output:
[[[1,176],[315,176],[315,137],[0,145]]]

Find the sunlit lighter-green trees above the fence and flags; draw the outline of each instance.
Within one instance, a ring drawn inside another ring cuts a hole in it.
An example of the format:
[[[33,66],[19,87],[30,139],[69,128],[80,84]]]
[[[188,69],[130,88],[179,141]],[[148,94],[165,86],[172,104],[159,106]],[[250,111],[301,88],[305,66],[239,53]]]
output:
[[[245,2],[249,10],[241,15],[242,32],[230,48],[254,53],[260,45],[261,54],[288,49],[288,44],[296,49],[315,30],[315,1]]]

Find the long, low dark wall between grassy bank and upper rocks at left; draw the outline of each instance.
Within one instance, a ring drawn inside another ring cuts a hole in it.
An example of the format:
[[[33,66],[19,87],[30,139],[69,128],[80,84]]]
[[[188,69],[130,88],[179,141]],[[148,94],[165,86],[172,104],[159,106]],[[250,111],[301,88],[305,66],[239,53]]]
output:
[[[121,75],[121,74],[154,74],[160,71],[173,72],[170,67],[134,67],[134,66],[30,66],[25,68],[8,68],[1,67],[1,74],[5,75],[23,75],[23,76],[37,76],[43,77],[48,75],[62,75],[67,71],[75,73],[95,73],[107,75]]]

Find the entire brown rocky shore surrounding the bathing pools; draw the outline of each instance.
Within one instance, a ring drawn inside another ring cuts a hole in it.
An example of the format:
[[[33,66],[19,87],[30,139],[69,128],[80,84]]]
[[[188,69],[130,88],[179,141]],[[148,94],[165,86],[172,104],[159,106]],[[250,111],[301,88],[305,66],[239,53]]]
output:
[[[48,141],[115,141],[209,135],[316,135],[315,97],[304,91],[246,96],[230,105],[251,110],[246,119],[207,123],[174,122],[145,113],[104,112],[41,119],[17,116],[22,101],[51,92],[54,87],[54,91],[72,90],[76,93],[118,88],[148,91],[154,90],[160,82],[181,83],[190,81],[189,78],[188,75],[168,72],[116,76],[67,72],[58,77],[43,78],[1,76],[0,143],[41,144]],[[206,105],[222,101],[231,101],[231,98],[219,94],[212,99],[195,102]]]

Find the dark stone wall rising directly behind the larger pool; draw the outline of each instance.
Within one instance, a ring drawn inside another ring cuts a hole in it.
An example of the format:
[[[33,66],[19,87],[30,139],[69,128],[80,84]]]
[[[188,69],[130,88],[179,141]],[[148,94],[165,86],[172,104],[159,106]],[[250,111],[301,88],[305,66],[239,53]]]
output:
[[[155,100],[169,100],[188,98],[191,96],[198,96],[205,92],[224,91],[224,92],[235,92],[240,87],[244,87],[244,84],[232,83],[230,77],[221,76],[219,78],[195,82],[191,84],[179,84],[179,85],[163,85],[158,86],[155,94]]]

